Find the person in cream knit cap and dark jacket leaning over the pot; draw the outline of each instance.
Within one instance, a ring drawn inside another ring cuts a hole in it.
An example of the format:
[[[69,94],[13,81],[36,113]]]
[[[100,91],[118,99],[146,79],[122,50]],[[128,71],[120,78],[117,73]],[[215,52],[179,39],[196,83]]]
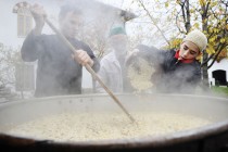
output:
[[[193,93],[201,80],[201,68],[197,58],[206,45],[206,36],[200,30],[192,30],[182,40],[179,49],[143,50],[135,53],[135,56],[142,56],[155,68],[151,81],[159,92]]]

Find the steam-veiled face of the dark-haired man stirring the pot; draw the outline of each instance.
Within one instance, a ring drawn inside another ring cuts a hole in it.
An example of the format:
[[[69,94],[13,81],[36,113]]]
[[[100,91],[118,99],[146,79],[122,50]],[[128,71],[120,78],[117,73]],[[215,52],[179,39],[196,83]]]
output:
[[[78,30],[83,27],[83,22],[79,15],[68,12],[65,17],[60,18],[60,27],[65,37],[75,38]]]

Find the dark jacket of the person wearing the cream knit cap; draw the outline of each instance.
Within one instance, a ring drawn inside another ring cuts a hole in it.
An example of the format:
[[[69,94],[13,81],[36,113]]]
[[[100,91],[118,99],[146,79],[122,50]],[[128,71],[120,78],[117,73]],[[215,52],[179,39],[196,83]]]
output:
[[[201,68],[198,61],[192,63],[177,62],[175,50],[157,50],[148,46],[139,46],[137,55],[131,55],[126,65],[132,64],[140,72],[138,58],[147,60],[155,72],[151,81],[157,92],[162,93],[193,93],[201,81]]]

